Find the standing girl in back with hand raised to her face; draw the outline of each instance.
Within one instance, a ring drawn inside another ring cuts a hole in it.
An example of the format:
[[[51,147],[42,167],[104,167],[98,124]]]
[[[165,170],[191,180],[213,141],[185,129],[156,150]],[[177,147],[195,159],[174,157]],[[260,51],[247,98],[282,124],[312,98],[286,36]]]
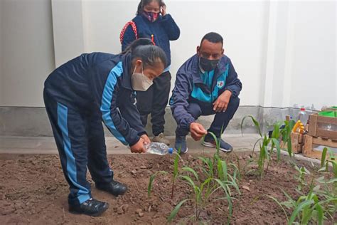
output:
[[[164,115],[171,88],[170,41],[177,40],[179,36],[180,30],[172,16],[166,14],[166,5],[161,0],[141,0],[137,16],[124,26],[120,36],[122,51],[137,38],[151,38],[154,44],[166,53],[167,64],[164,73],[154,80],[154,85],[149,90],[137,93],[141,122],[145,126],[151,113],[153,141],[164,142],[166,145],[170,144],[164,137]]]

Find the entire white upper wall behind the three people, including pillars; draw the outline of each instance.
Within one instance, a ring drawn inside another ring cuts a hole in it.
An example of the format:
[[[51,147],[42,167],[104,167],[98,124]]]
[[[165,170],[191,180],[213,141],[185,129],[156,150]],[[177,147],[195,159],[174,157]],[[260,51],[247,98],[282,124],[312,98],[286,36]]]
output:
[[[6,46],[2,51],[6,59],[1,57],[6,66],[0,70],[0,82],[6,98],[0,98],[0,105],[43,106],[42,83],[53,68],[54,56],[59,66],[82,52],[119,53],[119,32],[139,3],[51,1],[50,9],[50,0],[4,0],[6,35],[0,48]],[[166,4],[181,28],[181,38],[171,42],[172,86],[176,70],[196,53],[202,36],[217,31],[243,83],[241,105],[316,109],[337,105],[335,1],[167,0]],[[27,52],[36,48],[33,40],[41,36],[34,57],[14,63],[31,56]],[[26,50],[24,56],[11,51],[21,48]],[[34,68],[29,67],[32,64]]]

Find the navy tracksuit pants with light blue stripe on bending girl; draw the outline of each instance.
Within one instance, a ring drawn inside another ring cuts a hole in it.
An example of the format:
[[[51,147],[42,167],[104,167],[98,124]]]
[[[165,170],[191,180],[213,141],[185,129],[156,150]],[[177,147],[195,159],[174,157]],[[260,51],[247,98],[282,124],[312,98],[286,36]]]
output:
[[[60,154],[65,179],[70,186],[68,202],[81,204],[91,198],[87,168],[95,183],[112,182],[102,118],[98,112],[79,113],[43,93],[46,110]]]

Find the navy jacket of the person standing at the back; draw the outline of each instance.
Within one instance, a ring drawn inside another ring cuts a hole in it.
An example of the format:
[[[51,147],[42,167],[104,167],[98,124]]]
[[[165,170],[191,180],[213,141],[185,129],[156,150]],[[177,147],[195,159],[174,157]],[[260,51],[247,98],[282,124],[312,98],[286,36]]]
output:
[[[150,22],[143,15],[139,15],[132,19],[137,26],[138,38],[150,38],[154,35],[154,43],[156,46],[161,47],[167,57],[167,66],[171,65],[171,49],[170,41],[175,41],[180,36],[180,29],[178,28],[176,22],[172,19],[170,14],[165,16],[159,16],[154,22]],[[136,39],[134,31],[131,26],[128,26],[124,33],[124,38],[122,40],[122,51],[127,48],[129,43],[132,43]]]

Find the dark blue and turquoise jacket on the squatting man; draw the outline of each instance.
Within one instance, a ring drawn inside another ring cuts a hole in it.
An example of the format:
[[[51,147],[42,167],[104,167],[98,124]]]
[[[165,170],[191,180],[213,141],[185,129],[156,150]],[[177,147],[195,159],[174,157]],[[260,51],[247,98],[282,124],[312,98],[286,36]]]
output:
[[[211,88],[203,83],[200,73],[199,58],[195,55],[183,63],[176,75],[170,105],[178,126],[186,129],[195,122],[194,117],[187,112],[189,103],[213,107],[213,102],[225,90],[230,90],[231,98],[236,98],[242,89],[242,83],[227,56],[223,56],[215,68]]]

